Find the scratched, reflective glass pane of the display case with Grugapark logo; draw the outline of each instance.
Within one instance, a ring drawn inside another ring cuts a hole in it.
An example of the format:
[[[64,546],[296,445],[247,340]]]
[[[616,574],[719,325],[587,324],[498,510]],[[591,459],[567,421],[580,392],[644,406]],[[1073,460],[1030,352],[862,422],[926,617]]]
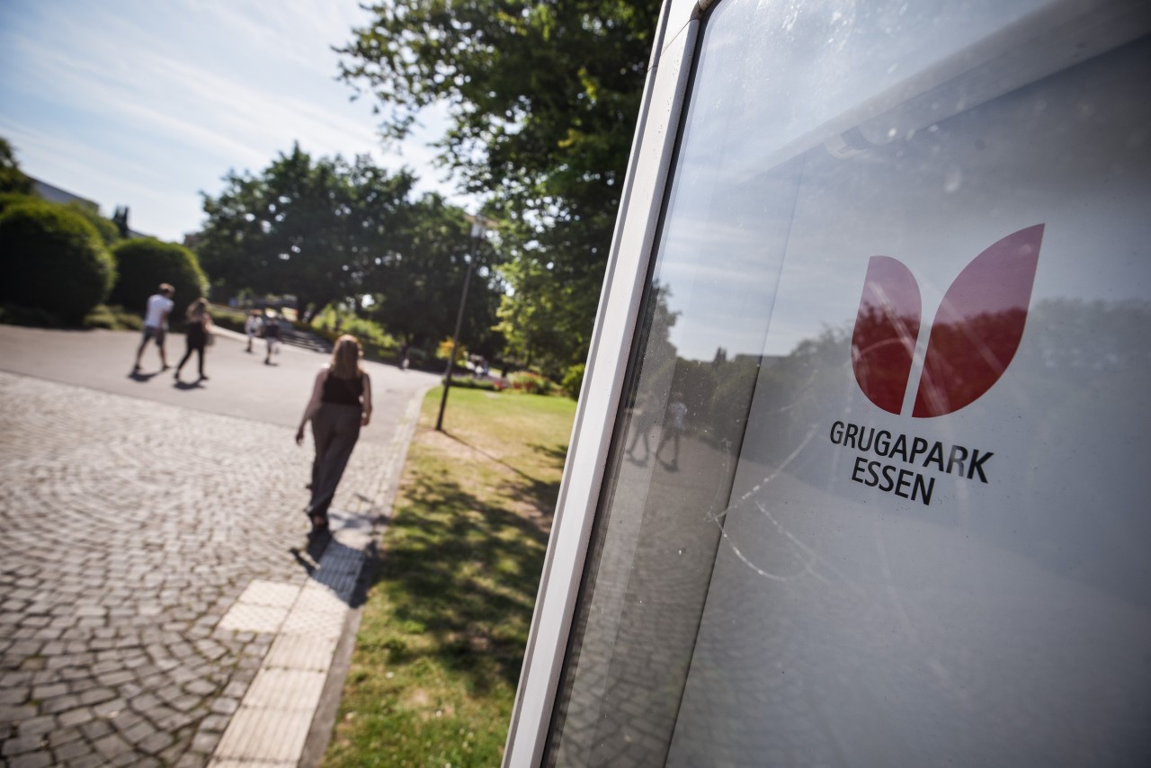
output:
[[[707,20],[549,763],[1151,763],[1149,15]]]

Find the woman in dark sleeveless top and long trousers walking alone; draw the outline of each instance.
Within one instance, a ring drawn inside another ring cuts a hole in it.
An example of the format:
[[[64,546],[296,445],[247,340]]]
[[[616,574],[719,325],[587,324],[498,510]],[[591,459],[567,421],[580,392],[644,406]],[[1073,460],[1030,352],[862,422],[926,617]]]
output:
[[[360,427],[372,417],[372,382],[360,365],[364,350],[356,336],[336,340],[331,362],[320,368],[312,387],[312,398],[304,409],[296,444],[304,444],[304,426],[312,423],[315,459],[312,462],[312,501],[307,517],[312,522],[308,539],[328,534],[328,507],[348,466]]]

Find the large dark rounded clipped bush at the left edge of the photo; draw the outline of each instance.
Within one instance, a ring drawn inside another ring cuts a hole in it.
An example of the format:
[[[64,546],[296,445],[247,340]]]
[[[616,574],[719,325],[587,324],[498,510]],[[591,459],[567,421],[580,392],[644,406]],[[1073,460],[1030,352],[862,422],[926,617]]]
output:
[[[108,296],[115,276],[99,234],[78,214],[29,201],[0,215],[0,302],[78,324]]]

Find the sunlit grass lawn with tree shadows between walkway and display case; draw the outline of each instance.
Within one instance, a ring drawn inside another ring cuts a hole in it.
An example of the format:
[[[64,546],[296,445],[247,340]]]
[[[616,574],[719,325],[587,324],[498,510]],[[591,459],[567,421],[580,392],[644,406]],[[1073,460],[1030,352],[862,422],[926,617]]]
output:
[[[498,766],[576,403],[424,401],[326,766]]]

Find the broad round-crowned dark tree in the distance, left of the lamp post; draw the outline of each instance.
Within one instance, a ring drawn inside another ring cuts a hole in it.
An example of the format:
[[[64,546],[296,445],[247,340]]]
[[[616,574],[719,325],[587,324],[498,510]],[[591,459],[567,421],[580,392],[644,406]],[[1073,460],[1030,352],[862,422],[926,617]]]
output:
[[[218,197],[204,195],[200,264],[230,290],[292,295],[303,313],[359,304],[414,177],[388,176],[366,157],[313,161],[296,145],[259,175],[230,172],[224,182]]]

